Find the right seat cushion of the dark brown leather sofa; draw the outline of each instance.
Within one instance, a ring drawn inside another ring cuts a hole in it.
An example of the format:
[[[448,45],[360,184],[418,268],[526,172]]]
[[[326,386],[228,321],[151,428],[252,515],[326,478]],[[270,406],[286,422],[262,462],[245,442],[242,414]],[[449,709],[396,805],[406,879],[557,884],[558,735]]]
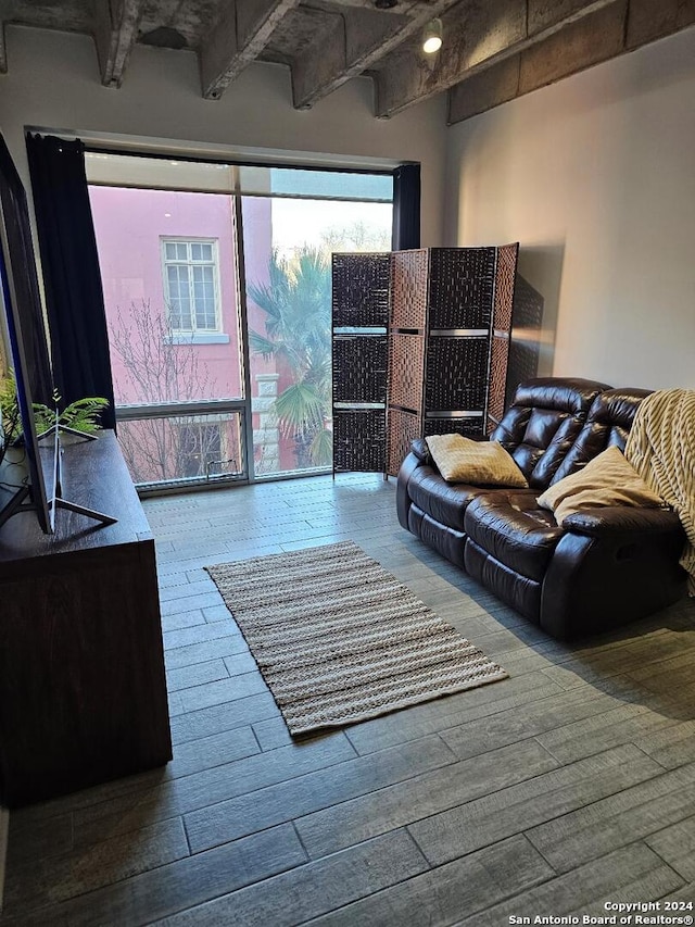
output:
[[[464,526],[496,561],[536,581],[543,579],[564,534],[531,490],[497,490],[472,500]]]

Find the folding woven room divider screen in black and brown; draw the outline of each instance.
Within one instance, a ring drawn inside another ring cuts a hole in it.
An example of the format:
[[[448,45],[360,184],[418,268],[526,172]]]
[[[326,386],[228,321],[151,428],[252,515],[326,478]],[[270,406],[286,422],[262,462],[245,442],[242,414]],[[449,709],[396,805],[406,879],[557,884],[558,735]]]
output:
[[[410,441],[504,412],[518,245],[333,254],[333,473],[395,476]]]

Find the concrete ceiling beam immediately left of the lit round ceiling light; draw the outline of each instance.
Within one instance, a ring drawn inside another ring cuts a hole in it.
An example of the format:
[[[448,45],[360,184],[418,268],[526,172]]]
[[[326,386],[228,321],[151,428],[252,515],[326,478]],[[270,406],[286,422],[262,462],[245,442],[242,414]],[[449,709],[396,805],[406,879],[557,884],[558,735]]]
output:
[[[374,67],[433,17],[458,0],[435,0],[427,8],[401,3],[391,13],[345,8],[328,37],[292,62],[292,99],[308,110],[348,80]]]

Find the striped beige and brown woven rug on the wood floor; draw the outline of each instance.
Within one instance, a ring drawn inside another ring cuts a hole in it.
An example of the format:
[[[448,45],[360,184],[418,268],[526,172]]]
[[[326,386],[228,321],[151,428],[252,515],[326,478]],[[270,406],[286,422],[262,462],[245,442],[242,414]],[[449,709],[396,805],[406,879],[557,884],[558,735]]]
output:
[[[292,735],[507,676],[352,541],[206,569]]]

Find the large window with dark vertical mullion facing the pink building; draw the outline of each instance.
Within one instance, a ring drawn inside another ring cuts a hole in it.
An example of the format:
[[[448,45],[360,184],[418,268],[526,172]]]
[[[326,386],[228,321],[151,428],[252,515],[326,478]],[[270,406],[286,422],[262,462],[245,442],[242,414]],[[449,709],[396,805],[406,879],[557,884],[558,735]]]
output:
[[[118,440],[148,490],[331,465],[331,253],[389,250],[390,174],[91,152]]]

